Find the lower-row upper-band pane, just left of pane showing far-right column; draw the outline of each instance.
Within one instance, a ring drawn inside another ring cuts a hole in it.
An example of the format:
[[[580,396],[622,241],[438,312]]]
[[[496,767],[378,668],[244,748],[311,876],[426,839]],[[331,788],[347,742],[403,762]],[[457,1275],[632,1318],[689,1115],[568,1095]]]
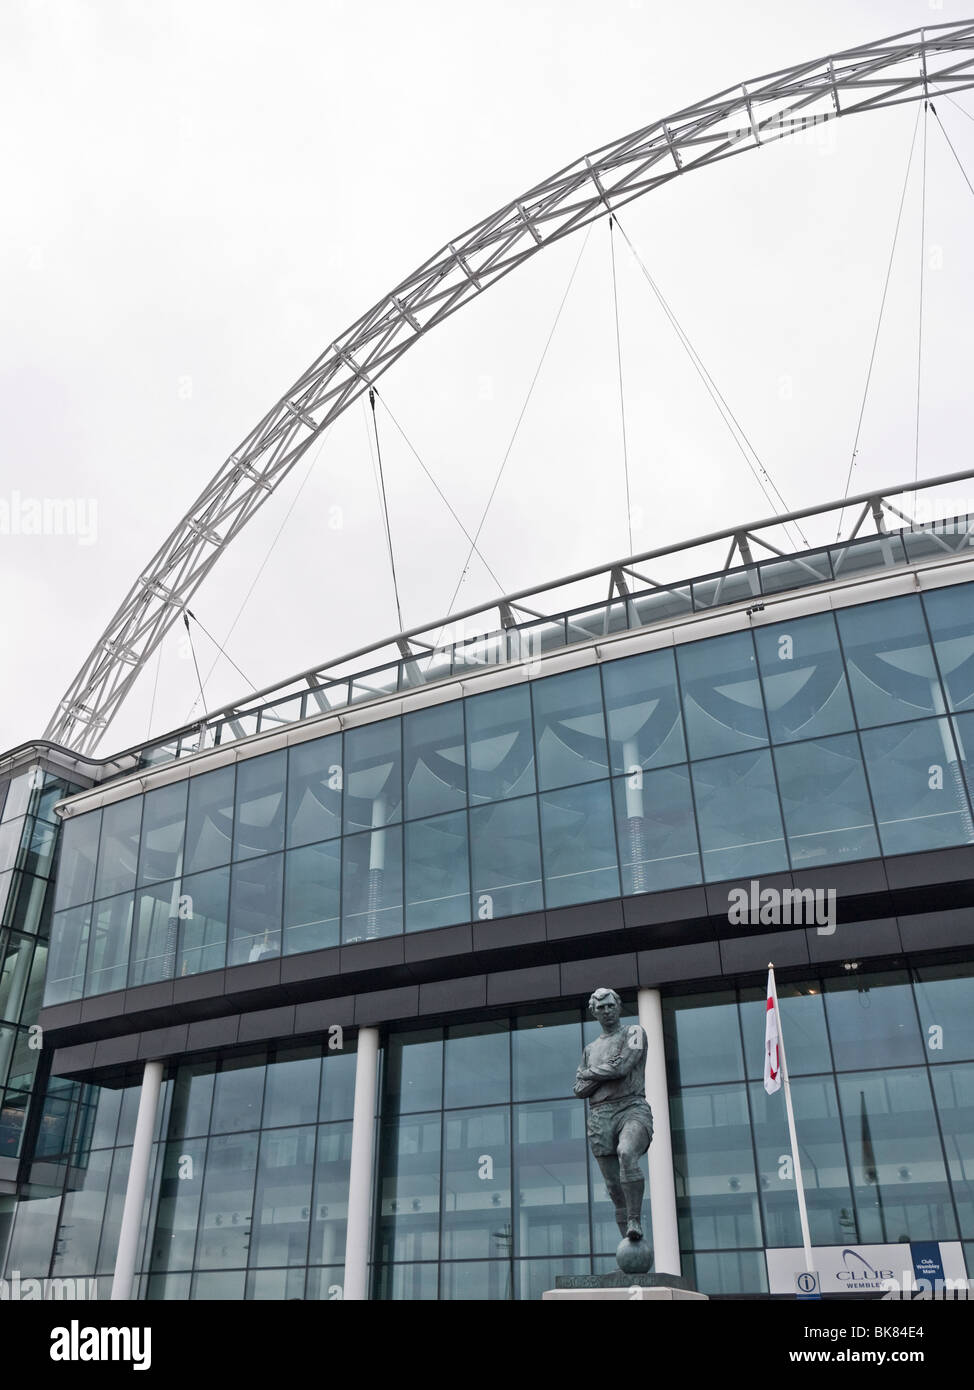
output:
[[[774,763],[795,869],[880,853],[855,734],[777,748]]]

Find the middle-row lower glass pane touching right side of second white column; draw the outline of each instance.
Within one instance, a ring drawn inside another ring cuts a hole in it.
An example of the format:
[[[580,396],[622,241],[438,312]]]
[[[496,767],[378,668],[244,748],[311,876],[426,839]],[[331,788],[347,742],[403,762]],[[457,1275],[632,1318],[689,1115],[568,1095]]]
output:
[[[377,1258],[383,1264],[439,1254],[439,1115],[382,1126]]]

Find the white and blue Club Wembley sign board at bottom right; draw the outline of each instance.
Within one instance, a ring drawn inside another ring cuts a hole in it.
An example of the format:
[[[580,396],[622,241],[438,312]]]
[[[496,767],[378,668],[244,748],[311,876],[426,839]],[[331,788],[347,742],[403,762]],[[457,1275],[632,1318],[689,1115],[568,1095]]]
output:
[[[804,1270],[804,1251],[800,1245],[764,1252],[768,1266],[768,1290],[773,1294],[816,1297],[799,1289],[798,1277]],[[945,1280],[967,1279],[964,1252],[959,1240],[918,1240],[895,1245],[814,1245],[814,1265],[818,1294],[873,1294],[896,1290],[917,1291],[923,1280],[936,1287]]]

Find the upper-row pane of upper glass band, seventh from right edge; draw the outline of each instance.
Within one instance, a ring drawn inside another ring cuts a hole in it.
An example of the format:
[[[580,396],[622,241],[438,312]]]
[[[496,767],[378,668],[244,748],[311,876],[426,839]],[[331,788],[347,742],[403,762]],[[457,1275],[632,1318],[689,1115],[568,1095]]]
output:
[[[535,741],[527,685],[464,701],[470,799],[497,801],[535,790]]]

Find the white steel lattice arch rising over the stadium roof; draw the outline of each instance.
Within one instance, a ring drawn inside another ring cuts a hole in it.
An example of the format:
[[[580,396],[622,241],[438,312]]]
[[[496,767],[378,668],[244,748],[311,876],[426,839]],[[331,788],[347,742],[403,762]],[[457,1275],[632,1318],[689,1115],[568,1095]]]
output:
[[[308,445],[414,342],[542,247],[691,170],[810,125],[974,86],[974,21],[911,29],[754,78],[604,145],[407,275],[285,392],[138,577],[44,738],[90,752],[185,605]]]

